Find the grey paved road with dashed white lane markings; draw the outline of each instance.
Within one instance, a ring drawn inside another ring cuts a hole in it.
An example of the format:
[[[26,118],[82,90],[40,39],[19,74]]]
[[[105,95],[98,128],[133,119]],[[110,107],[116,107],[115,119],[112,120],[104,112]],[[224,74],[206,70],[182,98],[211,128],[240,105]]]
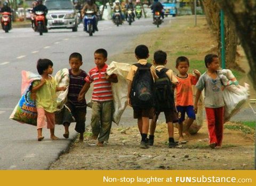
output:
[[[171,23],[172,19],[166,19],[162,26]],[[139,34],[157,29],[151,22],[151,19],[141,19],[132,26],[125,23],[116,27],[111,21],[100,21],[100,31],[93,37],[82,31],[82,25],[76,33],[65,29],[49,30],[43,36],[31,28],[15,28],[8,34],[0,30],[0,169],[47,169],[76,136],[73,124],[69,140],[52,141],[49,130],[44,129],[45,140],[37,142],[34,126],[9,119],[20,99],[21,70],[36,72],[36,61],[49,58],[54,63],[55,74],[58,69],[69,67],[68,58],[72,52],[79,52],[83,55],[83,69],[89,71],[94,67],[93,52],[97,48],[106,48],[109,56],[123,52]],[[90,115],[88,110],[87,120]],[[131,118],[132,109],[128,108],[121,124],[134,125],[135,120],[131,121]],[[62,126],[56,126],[55,131],[62,137]]]

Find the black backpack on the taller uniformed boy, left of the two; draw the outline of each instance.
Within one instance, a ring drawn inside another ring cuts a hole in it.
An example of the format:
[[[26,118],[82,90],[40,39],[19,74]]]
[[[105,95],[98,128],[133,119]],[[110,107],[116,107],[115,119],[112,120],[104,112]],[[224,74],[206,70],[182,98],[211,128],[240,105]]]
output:
[[[132,81],[130,99],[135,109],[154,107],[154,79],[150,72],[152,64],[136,63],[138,67]]]

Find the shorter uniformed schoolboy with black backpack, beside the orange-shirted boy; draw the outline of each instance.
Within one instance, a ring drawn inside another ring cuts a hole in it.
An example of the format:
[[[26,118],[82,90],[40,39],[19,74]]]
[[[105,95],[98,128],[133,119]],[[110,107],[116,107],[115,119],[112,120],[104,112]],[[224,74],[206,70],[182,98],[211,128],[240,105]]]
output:
[[[165,68],[166,53],[163,51],[156,51],[154,53],[154,64],[156,66],[156,75],[158,79],[155,81],[155,101],[156,101],[156,115],[151,120],[149,145],[154,144],[154,133],[156,129],[156,121],[161,112],[164,112],[169,134],[169,148],[176,146],[173,138],[173,123],[178,122],[178,112],[174,103],[173,88],[179,82],[175,78],[171,69]]]

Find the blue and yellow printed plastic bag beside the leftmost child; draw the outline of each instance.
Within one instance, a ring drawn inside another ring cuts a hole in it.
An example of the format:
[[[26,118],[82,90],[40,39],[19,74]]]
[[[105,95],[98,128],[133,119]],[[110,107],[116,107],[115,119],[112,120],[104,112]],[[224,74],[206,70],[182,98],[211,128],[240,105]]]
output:
[[[17,120],[20,123],[26,123],[30,125],[36,126],[37,120],[37,111],[36,111],[36,103],[34,101],[35,95],[31,93],[32,83],[30,83],[29,87],[21,96],[21,99],[17,106],[14,108],[10,119]]]

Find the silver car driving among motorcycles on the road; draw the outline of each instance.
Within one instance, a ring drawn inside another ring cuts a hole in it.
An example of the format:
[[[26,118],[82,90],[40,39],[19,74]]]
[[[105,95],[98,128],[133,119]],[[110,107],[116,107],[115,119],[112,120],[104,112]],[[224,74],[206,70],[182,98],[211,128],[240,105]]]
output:
[[[48,29],[71,28],[77,31],[78,16],[71,0],[45,0]]]

